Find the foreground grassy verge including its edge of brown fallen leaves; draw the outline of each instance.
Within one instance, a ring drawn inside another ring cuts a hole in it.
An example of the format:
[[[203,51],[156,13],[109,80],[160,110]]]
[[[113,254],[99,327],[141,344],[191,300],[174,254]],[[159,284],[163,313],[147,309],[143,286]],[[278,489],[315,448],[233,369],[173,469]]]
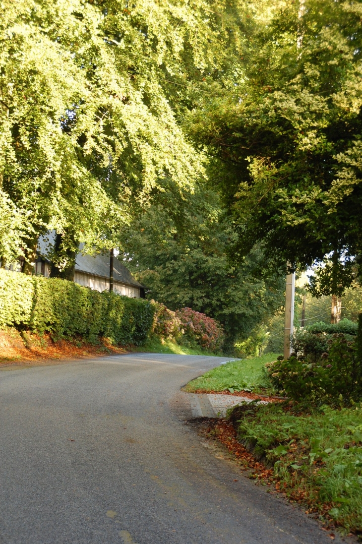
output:
[[[213,420],[208,436],[222,442],[249,477],[302,506],[328,530],[361,534],[362,407],[244,404],[229,419]]]

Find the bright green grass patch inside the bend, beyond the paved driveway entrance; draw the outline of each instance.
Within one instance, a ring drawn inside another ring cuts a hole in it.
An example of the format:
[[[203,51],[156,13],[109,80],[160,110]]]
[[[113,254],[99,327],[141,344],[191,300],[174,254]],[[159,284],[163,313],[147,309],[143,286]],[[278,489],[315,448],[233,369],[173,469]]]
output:
[[[275,361],[278,354],[268,353],[261,357],[231,361],[213,368],[199,378],[192,380],[185,387],[186,391],[224,391],[235,389],[255,390],[262,385],[261,370],[266,363]]]

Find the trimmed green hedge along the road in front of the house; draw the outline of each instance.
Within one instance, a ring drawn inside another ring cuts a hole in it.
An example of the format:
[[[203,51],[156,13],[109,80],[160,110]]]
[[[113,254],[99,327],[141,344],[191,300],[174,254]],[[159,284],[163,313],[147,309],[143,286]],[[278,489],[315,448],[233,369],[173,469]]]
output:
[[[104,336],[116,344],[139,345],[148,337],[154,311],[144,299],[0,269],[0,327],[48,331],[54,339],[80,335],[95,342]]]

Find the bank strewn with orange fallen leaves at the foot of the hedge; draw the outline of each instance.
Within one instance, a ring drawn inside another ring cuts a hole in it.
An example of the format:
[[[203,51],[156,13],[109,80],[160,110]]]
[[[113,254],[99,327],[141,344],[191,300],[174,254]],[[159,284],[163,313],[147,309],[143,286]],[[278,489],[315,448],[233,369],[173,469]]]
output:
[[[39,336],[16,329],[0,330],[0,366],[50,364],[111,354],[127,353],[106,339],[94,345],[81,338],[54,342],[50,335]]]

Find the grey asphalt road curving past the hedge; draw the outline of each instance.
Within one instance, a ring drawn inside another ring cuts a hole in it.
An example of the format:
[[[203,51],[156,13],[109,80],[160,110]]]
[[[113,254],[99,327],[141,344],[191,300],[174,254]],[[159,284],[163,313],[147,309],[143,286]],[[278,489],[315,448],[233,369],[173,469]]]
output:
[[[0,543],[330,543],[185,424],[180,387],[219,362],[132,354],[2,370]]]

